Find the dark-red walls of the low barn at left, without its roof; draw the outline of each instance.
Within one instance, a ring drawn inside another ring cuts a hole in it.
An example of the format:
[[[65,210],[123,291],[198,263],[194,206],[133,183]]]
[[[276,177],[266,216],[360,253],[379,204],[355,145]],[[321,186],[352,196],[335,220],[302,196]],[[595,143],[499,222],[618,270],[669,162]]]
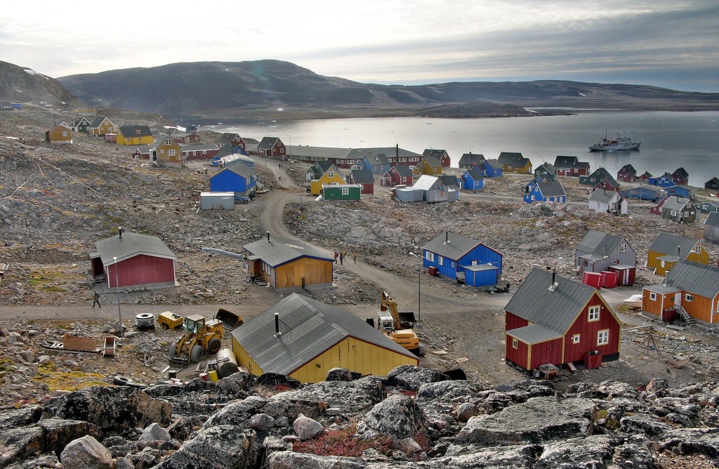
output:
[[[120,287],[173,282],[175,263],[172,259],[136,255],[117,263],[117,280]],[[107,284],[110,288],[116,288],[114,264],[107,266]]]

